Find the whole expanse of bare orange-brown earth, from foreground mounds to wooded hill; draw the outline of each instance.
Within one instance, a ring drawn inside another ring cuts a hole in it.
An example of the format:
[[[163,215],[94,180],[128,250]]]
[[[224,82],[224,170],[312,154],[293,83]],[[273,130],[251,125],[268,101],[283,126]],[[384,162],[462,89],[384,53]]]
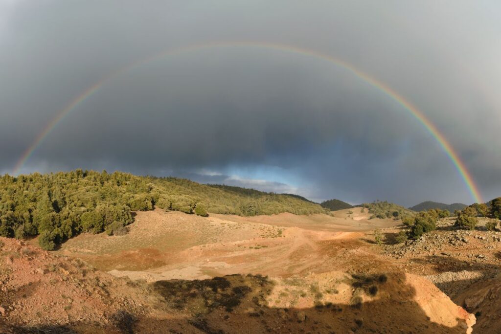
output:
[[[139,212],[125,236],[80,235],[51,253],[2,238],[0,325],[7,332],[54,324],[84,333],[470,332],[472,314],[369,242],[370,230],[398,222],[366,220],[358,210],[247,218]]]

